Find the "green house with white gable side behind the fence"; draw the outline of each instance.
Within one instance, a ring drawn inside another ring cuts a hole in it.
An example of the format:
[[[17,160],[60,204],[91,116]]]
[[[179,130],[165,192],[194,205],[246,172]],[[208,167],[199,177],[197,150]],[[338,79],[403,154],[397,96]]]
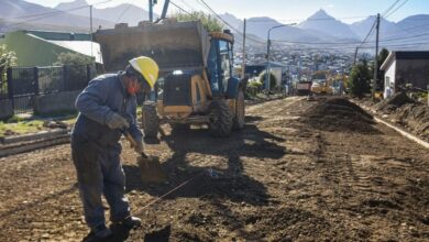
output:
[[[100,44],[91,42],[91,35],[86,33],[15,31],[3,34],[0,44],[16,54],[18,66],[51,66],[61,53],[92,56],[102,64]]]

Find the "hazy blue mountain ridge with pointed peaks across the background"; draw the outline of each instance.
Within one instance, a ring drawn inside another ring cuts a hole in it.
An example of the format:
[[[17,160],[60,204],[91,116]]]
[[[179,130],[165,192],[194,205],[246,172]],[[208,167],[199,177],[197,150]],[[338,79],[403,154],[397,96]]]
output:
[[[47,8],[24,0],[3,0],[2,8],[0,8],[0,32],[20,29],[89,32],[89,7],[86,8],[86,6],[88,6],[86,0],[63,2],[55,8]],[[237,35],[243,32],[242,20],[228,12],[219,15],[232,26],[226,28],[232,29],[232,32],[238,32]],[[92,8],[92,29],[98,26],[109,29],[119,22],[136,25],[138,22],[148,18],[147,11],[128,3],[105,9]],[[156,18],[157,15],[154,14],[154,19]],[[320,47],[322,46],[320,43],[327,42],[359,43],[365,38],[374,21],[375,16],[370,15],[366,19],[348,24],[320,9],[297,25],[278,29],[272,28],[283,23],[268,16],[250,18],[246,21],[246,34],[264,42],[267,38],[268,30],[272,29],[270,38],[277,43],[285,45],[314,43],[316,47]],[[396,23],[382,18],[380,36],[381,46],[402,46],[404,43],[409,45],[429,42],[429,14],[410,15]],[[374,38],[375,34],[372,34],[367,42],[372,43]]]

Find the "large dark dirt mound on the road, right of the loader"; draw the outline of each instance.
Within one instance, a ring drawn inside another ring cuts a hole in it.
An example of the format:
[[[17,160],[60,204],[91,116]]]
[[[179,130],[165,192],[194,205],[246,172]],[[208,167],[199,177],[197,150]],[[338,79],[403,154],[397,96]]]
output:
[[[321,100],[304,113],[304,121],[328,131],[373,133],[373,117],[344,98]]]

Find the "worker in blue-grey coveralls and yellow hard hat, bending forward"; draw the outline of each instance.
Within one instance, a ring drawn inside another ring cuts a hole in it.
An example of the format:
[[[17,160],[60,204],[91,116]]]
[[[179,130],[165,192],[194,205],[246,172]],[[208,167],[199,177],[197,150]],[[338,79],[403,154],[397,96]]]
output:
[[[150,91],[158,76],[158,66],[150,57],[129,61],[124,72],[96,77],[76,99],[79,116],[72,132],[72,155],[77,172],[85,220],[90,237],[108,238],[101,195],[110,206],[110,221],[132,229],[141,220],[130,215],[124,196],[125,175],[120,163],[119,139],[127,130],[143,152],[143,134],[136,124],[136,98]]]

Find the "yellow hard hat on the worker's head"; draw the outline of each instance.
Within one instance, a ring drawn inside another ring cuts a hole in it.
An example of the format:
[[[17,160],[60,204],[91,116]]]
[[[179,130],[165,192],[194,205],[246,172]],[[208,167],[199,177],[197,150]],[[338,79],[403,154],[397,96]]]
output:
[[[139,56],[130,62],[131,67],[140,73],[153,89],[158,79],[158,65],[151,57]]]

